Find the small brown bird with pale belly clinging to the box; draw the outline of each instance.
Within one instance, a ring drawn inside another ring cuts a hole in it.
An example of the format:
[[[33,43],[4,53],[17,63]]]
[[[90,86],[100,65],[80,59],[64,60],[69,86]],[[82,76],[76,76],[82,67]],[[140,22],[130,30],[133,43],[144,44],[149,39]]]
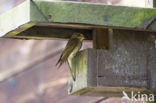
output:
[[[68,62],[69,70],[73,80],[75,81],[76,77],[73,75],[72,71],[72,59],[75,57],[77,52],[81,49],[82,41],[85,39],[84,35],[81,33],[73,33],[71,38],[69,39],[65,49],[63,50],[60,59],[57,64],[59,64],[58,68],[64,63]]]

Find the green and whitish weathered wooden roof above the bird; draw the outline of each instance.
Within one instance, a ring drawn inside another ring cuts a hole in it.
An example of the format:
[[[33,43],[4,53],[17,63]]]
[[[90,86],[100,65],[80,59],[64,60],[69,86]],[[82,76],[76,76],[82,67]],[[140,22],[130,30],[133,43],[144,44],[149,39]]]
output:
[[[120,12],[121,10],[123,11]],[[15,13],[17,15],[11,18]],[[86,30],[86,28],[95,29],[100,26],[100,28],[111,27],[155,32],[155,15],[156,9],[149,8],[27,0],[0,16],[0,36],[47,39],[46,35],[33,37],[30,34],[20,35],[21,32],[29,30],[33,26],[41,26],[41,24],[52,28],[61,26],[60,24],[67,28],[76,25],[74,28],[78,30],[82,27]],[[60,28],[58,28],[59,30]],[[55,37],[62,38],[59,36]],[[48,38],[53,38],[53,36]],[[89,40],[89,38],[87,39]]]

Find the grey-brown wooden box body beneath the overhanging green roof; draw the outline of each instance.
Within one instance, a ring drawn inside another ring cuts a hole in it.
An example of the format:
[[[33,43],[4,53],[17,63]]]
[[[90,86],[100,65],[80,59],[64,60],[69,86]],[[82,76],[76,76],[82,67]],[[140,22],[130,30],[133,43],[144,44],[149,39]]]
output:
[[[80,52],[81,57],[76,58],[83,59],[77,59],[81,63],[78,62],[76,67],[83,71],[79,71],[81,76],[77,74],[70,94],[120,97],[122,91],[154,93],[155,37],[154,33],[114,30],[108,50],[86,49]]]

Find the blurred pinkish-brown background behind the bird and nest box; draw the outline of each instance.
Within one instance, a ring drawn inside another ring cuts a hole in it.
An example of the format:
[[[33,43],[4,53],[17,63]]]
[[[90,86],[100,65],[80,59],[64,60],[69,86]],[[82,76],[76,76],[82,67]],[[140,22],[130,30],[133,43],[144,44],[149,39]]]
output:
[[[23,1],[25,0],[0,0],[0,14]],[[123,0],[72,1],[105,4],[123,2]],[[68,66],[64,64],[59,70],[55,66],[66,42],[1,38],[0,103],[121,103],[120,98],[109,98],[100,102],[102,97],[68,95]],[[84,42],[82,49],[91,47],[91,42]]]

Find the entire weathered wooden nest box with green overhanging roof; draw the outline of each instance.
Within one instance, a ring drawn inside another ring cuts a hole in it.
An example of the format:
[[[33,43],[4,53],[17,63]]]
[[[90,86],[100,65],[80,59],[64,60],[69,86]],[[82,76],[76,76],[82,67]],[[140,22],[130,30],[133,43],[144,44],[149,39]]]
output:
[[[0,15],[0,36],[93,41],[75,57],[71,95],[120,97],[156,91],[156,9],[27,0]]]

